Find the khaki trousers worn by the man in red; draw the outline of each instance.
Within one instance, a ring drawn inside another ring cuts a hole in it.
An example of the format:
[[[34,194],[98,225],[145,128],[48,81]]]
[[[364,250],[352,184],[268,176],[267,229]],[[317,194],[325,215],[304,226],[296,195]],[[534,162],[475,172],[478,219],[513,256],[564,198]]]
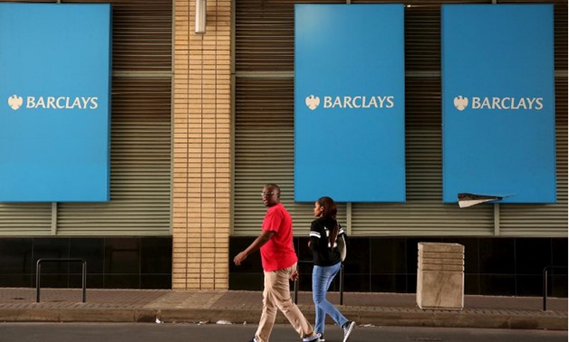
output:
[[[304,318],[303,313],[291,299],[290,277],[296,270],[296,264],[288,269],[265,271],[265,290],[263,290],[263,313],[256,329],[257,342],[268,342],[275,326],[276,309],[283,312],[284,317],[293,326],[300,337],[314,336],[313,327]]]

